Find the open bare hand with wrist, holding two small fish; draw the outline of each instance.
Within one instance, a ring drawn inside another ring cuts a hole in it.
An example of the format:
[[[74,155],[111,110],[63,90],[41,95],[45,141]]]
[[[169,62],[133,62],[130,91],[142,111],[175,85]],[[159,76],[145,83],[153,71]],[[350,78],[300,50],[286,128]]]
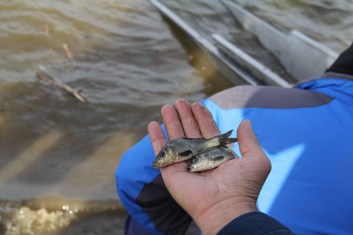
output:
[[[191,107],[184,99],[175,107],[163,106],[162,117],[169,140],[211,138],[220,135],[212,114],[202,103]],[[157,122],[148,126],[154,153],[167,143]],[[249,120],[237,130],[241,159],[233,159],[215,169],[189,173],[187,162],[161,168],[163,181],[176,202],[190,214],[203,235],[214,235],[241,214],[257,211],[256,201],[271,170]]]

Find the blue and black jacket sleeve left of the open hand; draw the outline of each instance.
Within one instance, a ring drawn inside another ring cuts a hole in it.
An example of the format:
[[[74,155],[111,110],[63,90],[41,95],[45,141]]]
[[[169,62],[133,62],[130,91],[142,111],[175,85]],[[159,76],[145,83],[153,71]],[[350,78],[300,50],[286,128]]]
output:
[[[151,233],[184,235],[192,219],[169,194],[160,170],[151,165],[154,159],[148,135],[122,156],[115,172],[120,200],[126,211]]]

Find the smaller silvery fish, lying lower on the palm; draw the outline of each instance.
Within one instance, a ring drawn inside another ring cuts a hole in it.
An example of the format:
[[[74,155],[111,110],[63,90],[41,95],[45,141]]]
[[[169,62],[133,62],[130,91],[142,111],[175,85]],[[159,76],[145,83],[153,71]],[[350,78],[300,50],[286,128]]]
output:
[[[208,170],[234,158],[239,157],[232,150],[225,147],[214,147],[195,155],[186,169],[189,172]]]

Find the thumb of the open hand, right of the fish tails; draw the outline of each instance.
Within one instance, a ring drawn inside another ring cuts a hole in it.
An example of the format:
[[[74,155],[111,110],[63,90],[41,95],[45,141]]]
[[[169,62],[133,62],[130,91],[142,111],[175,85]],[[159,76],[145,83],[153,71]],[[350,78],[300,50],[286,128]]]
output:
[[[260,143],[258,142],[254,132],[252,131],[252,124],[250,120],[244,120],[240,123],[237,129],[237,138],[239,141],[239,150],[243,158],[259,155],[266,156],[262,151]]]

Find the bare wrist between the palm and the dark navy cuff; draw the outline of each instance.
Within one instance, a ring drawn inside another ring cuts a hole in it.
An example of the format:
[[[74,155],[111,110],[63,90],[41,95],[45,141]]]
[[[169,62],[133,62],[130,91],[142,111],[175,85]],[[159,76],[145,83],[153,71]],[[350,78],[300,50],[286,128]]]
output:
[[[203,235],[216,235],[223,227],[238,216],[258,211],[256,201],[246,200],[242,202],[219,202],[218,204],[194,215],[194,220],[201,229]]]

